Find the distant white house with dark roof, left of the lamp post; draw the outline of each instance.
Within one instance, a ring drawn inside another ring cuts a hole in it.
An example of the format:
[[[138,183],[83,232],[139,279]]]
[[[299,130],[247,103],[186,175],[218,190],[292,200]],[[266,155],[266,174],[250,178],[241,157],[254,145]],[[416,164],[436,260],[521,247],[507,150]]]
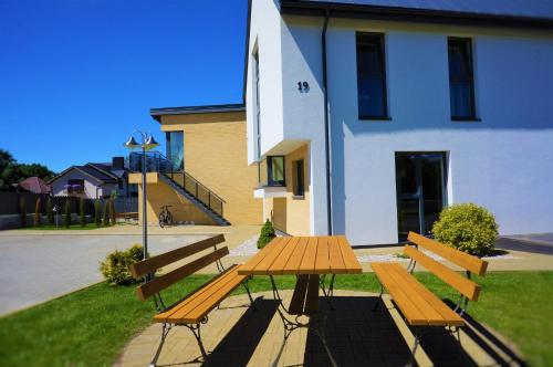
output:
[[[135,185],[128,184],[128,169],[123,157],[114,157],[111,164],[88,162],[71,166],[49,181],[54,196],[75,196],[88,199],[137,195]]]

